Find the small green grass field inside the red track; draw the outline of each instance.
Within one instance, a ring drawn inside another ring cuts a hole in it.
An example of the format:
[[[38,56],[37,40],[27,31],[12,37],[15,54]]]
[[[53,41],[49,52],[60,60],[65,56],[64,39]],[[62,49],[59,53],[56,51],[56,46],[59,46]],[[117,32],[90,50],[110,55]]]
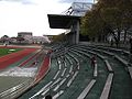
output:
[[[19,52],[21,51],[22,48],[0,48],[0,56],[3,56],[3,55],[7,55],[7,54],[10,54],[10,53],[15,53],[15,52]]]

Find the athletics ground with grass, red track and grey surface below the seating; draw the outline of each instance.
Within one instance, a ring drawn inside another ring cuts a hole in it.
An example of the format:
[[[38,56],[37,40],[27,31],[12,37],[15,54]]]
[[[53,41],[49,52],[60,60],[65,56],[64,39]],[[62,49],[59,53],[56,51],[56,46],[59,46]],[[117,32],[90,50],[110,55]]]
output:
[[[44,55],[37,47],[0,46],[0,99],[12,99],[31,86]]]

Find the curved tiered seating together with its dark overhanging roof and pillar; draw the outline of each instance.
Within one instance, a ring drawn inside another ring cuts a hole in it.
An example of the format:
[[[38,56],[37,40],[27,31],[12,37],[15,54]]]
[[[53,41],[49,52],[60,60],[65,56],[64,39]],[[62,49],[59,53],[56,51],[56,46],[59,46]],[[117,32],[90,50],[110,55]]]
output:
[[[70,29],[72,44],[52,45],[51,68],[44,79],[19,99],[132,99],[130,53],[98,45],[78,44],[80,16],[48,14],[53,29]],[[96,56],[95,67],[90,58]],[[122,86],[123,85],[123,86]]]

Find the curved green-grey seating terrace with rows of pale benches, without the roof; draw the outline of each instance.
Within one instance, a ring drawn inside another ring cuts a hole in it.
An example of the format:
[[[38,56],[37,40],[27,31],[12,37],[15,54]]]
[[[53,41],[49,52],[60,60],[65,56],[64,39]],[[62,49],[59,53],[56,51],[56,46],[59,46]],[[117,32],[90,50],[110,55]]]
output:
[[[53,99],[132,98],[130,92],[125,92],[127,89],[132,90],[129,89],[132,88],[130,75],[124,69],[122,57],[116,56],[114,52],[86,45],[68,46],[65,53],[64,50],[58,50],[62,51],[61,54],[58,52],[54,54],[53,61],[56,59],[56,62],[53,64],[56,70],[53,72],[54,69],[51,68],[48,74],[52,77],[47,74],[48,78],[45,77],[45,80],[48,79],[48,81],[44,81],[43,87],[30,99],[45,99],[48,94]],[[90,58],[94,55],[97,57],[95,68],[90,66]],[[123,84],[125,86],[122,86]]]

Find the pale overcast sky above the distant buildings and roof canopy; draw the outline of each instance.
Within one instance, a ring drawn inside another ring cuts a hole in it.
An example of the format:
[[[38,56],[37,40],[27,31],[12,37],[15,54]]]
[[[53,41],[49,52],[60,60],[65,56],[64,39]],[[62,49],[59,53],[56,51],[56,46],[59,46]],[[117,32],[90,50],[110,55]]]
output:
[[[73,1],[92,0],[0,0],[0,36],[16,36],[18,32],[33,32],[34,36],[58,34],[51,30],[47,14],[59,14]]]

